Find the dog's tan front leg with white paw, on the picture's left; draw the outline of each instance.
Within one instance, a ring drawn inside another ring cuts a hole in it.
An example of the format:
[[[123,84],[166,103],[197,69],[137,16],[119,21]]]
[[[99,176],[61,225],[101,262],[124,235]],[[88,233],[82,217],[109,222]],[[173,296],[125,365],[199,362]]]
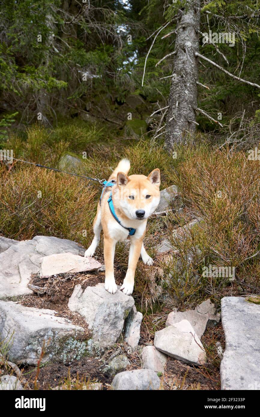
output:
[[[105,289],[111,294],[115,294],[117,286],[114,278],[114,256],[116,241],[104,236],[104,259],[105,259]]]

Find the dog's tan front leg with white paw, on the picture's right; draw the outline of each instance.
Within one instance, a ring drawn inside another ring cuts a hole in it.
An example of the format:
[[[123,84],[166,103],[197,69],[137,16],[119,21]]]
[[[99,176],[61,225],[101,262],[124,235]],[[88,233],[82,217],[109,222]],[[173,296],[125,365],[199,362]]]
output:
[[[141,253],[142,243],[143,239],[131,239],[128,269],[126,271],[126,277],[124,279],[123,285],[120,288],[126,295],[131,295],[134,290],[134,274]]]

